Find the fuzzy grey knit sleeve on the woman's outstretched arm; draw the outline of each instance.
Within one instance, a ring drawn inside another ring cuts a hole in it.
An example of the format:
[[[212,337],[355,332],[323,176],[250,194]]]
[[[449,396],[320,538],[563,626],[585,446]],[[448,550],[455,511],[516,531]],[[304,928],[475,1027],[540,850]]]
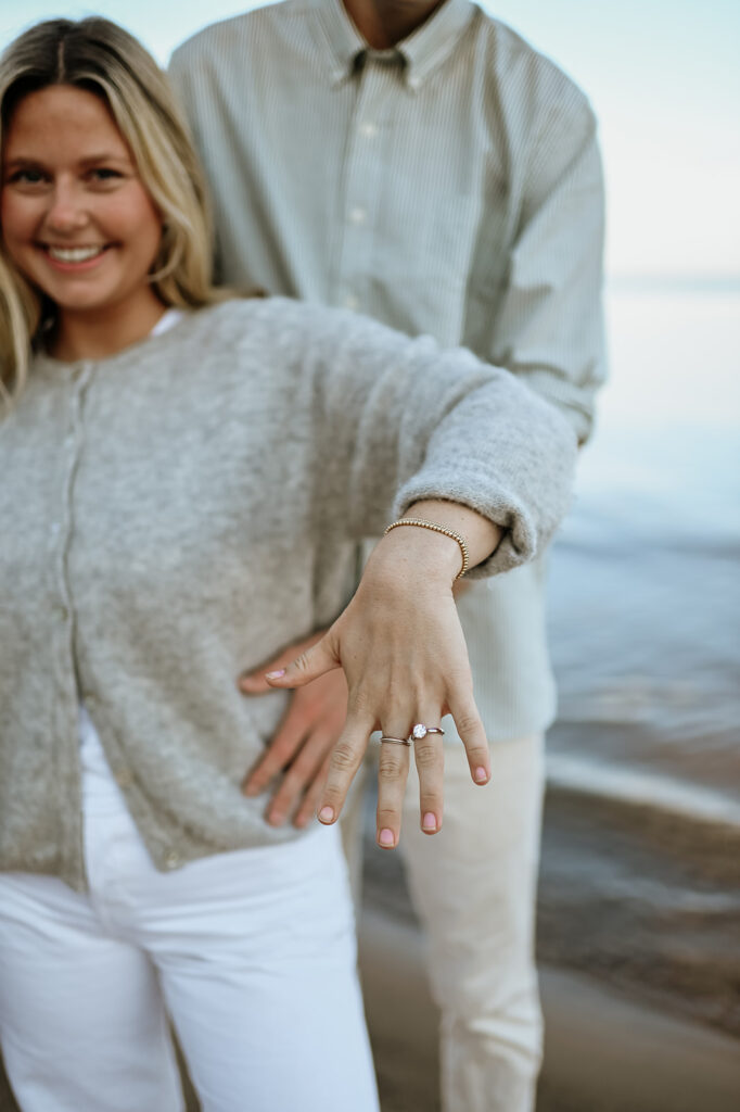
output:
[[[544,548],[568,509],[577,454],[554,406],[508,370],[429,337],[314,306],[291,315],[304,330],[326,525],[379,536],[413,502],[444,498],[504,530],[472,575],[506,572]]]

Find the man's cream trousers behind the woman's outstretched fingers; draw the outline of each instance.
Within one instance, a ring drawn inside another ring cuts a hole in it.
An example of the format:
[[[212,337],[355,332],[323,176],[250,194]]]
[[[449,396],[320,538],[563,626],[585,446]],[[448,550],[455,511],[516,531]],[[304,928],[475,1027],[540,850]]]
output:
[[[444,1112],[531,1112],[542,1056],[533,934],[544,783],[541,736],[491,745],[476,787],[444,746],[444,820],[419,830],[413,761],[400,848],[441,1011]]]

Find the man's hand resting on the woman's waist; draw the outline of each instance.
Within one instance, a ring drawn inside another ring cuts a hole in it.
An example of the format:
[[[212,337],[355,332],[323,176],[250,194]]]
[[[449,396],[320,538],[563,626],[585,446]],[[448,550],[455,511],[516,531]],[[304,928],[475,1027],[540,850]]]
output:
[[[284,667],[321,637],[321,633],[314,634],[287,648],[264,667],[242,676],[240,689],[246,695],[273,691],[264,673]],[[286,773],[267,808],[267,820],[272,826],[281,826],[293,815],[293,825],[302,827],[313,817],[329,757],[346,718],[347,681],[341,668],[294,692],[280,728],[242,784],[244,795],[259,795],[274,775]]]

